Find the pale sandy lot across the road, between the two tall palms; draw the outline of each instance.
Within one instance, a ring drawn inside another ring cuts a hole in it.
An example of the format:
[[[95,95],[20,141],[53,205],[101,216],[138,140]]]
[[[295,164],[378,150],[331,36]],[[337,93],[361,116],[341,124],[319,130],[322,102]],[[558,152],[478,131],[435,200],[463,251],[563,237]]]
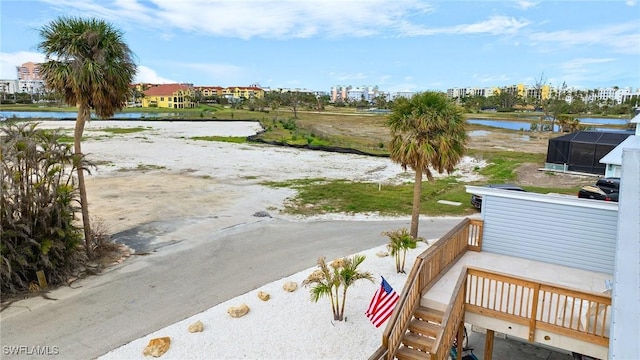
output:
[[[70,134],[73,125],[45,121],[40,127]],[[145,130],[118,135],[108,131],[136,127]],[[264,181],[326,178],[385,184],[413,180],[412,173],[388,158],[192,139],[247,136],[259,130],[255,122],[90,122],[83,152],[98,165],[87,177],[91,216],[103,219],[117,233],[157,220],[277,212],[294,192],[260,185]],[[465,158],[454,174],[464,181],[480,181],[473,169],[484,165]]]

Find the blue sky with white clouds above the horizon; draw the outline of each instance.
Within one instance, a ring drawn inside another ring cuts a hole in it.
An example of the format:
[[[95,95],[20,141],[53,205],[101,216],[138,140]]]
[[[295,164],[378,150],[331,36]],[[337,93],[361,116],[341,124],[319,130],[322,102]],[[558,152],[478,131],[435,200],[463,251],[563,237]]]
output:
[[[384,91],[640,87],[627,1],[1,0],[0,78],[43,61],[38,29],[97,17],[124,33],[137,82]]]

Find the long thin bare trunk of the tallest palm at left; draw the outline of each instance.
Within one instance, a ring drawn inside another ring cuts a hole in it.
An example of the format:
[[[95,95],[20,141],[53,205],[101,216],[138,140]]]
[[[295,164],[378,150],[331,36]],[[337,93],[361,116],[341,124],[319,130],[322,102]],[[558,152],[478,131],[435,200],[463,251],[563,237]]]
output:
[[[84,124],[91,115],[89,108],[81,104],[78,109],[78,117],[76,118],[76,126],[73,132],[73,150],[76,156],[78,169],[78,188],[80,189],[80,208],[82,210],[82,225],[84,227],[84,242],[87,248],[87,256],[91,259],[93,256],[93,239],[91,238],[91,223],[89,221],[89,203],[87,201],[87,188],[84,184],[84,167],[82,166],[82,133],[84,132]]]

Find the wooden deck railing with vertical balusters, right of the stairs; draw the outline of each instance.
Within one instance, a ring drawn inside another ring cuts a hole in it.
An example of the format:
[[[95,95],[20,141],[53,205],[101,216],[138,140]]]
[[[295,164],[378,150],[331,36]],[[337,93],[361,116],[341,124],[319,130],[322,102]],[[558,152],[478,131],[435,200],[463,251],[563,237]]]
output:
[[[601,346],[609,344],[611,295],[596,294],[488,270],[467,270],[466,311],[570,336]]]

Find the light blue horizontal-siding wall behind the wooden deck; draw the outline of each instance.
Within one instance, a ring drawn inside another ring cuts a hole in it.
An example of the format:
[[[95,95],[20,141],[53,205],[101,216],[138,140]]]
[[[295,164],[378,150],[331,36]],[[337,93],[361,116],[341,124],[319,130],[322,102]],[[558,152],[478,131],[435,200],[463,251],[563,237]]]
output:
[[[482,251],[613,274],[617,206],[563,199],[533,193],[483,195]]]

